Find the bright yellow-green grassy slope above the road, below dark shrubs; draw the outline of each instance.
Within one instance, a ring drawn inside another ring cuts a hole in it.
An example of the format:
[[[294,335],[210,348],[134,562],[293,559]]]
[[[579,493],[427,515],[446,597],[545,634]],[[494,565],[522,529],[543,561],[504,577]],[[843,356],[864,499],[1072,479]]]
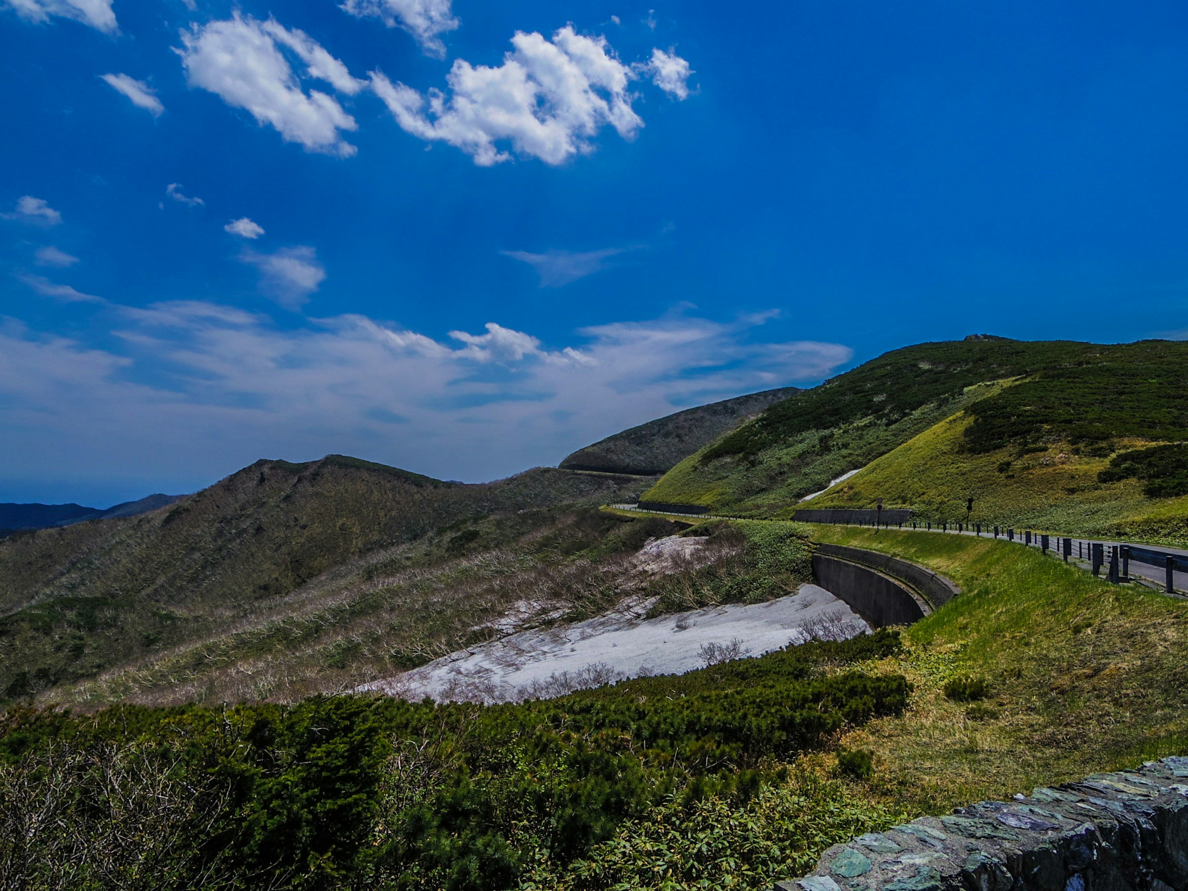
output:
[[[1188,544],[1188,498],[1145,498],[1136,479],[1099,482],[1108,459],[1068,443],[1023,456],[1015,447],[972,453],[963,437],[972,423],[967,412],[954,415],[805,506],[868,507],[881,497],[935,523],[965,519],[973,498],[971,519],[984,525]]]

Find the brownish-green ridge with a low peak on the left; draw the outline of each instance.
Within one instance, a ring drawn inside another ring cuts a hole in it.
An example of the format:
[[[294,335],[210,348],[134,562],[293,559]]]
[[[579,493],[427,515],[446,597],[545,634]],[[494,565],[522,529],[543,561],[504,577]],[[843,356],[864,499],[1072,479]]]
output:
[[[598,503],[621,497],[625,485],[542,468],[463,486],[339,456],[261,461],[141,517],[7,539],[0,543],[0,697],[258,630],[265,617],[297,611],[286,599],[323,573],[461,518]],[[329,596],[334,586],[317,590]],[[311,606],[318,596],[301,598],[298,612],[312,614],[318,627],[335,624]],[[432,624],[422,628],[432,640]],[[265,637],[271,645],[253,646],[274,651],[303,639]]]

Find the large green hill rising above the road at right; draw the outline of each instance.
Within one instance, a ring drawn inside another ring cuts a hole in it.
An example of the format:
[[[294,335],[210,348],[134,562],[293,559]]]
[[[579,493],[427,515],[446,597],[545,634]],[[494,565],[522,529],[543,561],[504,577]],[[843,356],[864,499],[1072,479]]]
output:
[[[777,403],[682,461],[645,498],[789,516],[830,480],[867,468],[805,506],[868,507],[881,497],[886,506],[956,519],[973,497],[987,522],[994,504],[1000,522],[1061,527],[1055,520],[1064,514],[1041,510],[1060,503],[1072,511],[1068,522],[1083,520],[1067,531],[1132,529],[1142,517],[1182,513],[1167,499],[1175,486],[1164,486],[1163,498],[1144,494],[1181,473],[1178,453],[1150,468],[1114,461],[1110,484],[1097,475],[1121,451],[1184,438],[1188,343],[980,336],[898,349]],[[1032,467],[1047,474],[1043,485],[1020,475]],[[1038,523],[1042,516],[1053,522]]]

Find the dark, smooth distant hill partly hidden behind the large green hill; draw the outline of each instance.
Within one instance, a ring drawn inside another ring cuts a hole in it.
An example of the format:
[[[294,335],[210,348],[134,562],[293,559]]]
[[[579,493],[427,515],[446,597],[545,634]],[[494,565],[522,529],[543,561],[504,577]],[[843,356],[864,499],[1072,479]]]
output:
[[[579,449],[562,461],[561,467],[640,476],[662,474],[740,422],[798,392],[797,387],[765,390],[685,409]]]

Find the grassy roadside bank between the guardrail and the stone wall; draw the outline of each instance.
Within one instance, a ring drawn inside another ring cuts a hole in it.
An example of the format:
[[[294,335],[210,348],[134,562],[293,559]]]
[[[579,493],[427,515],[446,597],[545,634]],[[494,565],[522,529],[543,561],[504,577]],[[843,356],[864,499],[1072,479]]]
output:
[[[1186,751],[1188,604],[988,539],[842,526],[817,538],[917,561],[965,592],[880,663],[915,683],[908,712],[843,740],[876,753],[879,797],[943,813]],[[990,700],[946,699],[959,675],[990,680]]]

